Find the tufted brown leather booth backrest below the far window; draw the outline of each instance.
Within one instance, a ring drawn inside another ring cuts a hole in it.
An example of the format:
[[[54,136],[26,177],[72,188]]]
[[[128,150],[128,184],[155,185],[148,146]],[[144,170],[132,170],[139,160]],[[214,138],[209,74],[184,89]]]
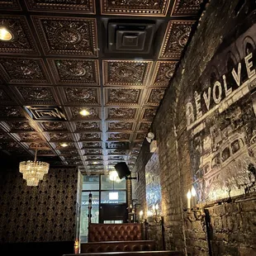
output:
[[[90,224],[88,242],[142,240],[140,223]]]

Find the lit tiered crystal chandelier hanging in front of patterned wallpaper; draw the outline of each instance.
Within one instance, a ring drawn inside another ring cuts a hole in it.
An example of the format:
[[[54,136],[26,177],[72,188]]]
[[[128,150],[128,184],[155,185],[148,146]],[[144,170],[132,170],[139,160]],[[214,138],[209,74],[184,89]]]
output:
[[[37,149],[36,149],[37,153]],[[20,163],[20,173],[26,179],[27,186],[37,186],[39,181],[48,173],[50,164],[36,161],[36,154],[34,161],[28,160]]]

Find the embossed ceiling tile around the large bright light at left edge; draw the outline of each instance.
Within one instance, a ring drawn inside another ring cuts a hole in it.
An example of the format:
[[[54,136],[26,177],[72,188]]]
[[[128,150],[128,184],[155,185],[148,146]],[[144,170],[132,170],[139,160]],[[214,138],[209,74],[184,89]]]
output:
[[[0,18],[0,24],[1,26],[6,27],[8,31],[12,33],[12,40],[1,41],[1,53],[21,53],[38,55],[35,41],[31,36],[31,31],[25,17],[2,15]]]

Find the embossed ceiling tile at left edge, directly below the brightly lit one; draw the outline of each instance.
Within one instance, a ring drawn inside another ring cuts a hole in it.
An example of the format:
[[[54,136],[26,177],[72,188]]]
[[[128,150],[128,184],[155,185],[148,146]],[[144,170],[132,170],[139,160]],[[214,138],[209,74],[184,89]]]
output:
[[[8,83],[49,83],[41,59],[0,59],[3,77]]]

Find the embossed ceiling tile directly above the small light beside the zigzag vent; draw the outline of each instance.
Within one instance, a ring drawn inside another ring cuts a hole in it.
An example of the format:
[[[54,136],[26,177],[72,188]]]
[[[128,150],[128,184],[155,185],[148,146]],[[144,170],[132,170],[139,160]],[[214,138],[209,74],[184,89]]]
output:
[[[86,105],[99,105],[100,102],[100,90],[98,88],[66,87],[64,93],[68,102]]]

